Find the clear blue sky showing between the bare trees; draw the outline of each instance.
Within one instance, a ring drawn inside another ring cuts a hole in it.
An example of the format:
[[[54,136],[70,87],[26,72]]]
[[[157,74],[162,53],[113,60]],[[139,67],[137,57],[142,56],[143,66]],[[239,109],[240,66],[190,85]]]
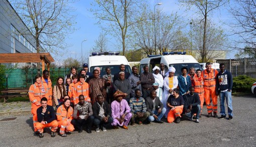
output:
[[[195,17],[195,13],[193,11],[185,12],[185,8],[178,5],[177,0],[144,0],[148,1],[152,10],[154,10],[154,6],[158,3],[162,3],[162,5],[157,6],[161,7],[164,12],[167,14],[171,14],[172,12],[178,12],[179,15],[183,16],[183,18],[188,20],[187,29],[190,29],[190,20]],[[101,28],[97,25],[97,20],[93,16],[93,14],[89,11],[92,7],[90,4],[93,0],[80,0],[75,2],[72,7],[76,9],[73,14],[76,15],[76,31],[73,34],[68,34],[65,40],[66,43],[70,44],[71,47],[68,48],[68,52],[64,54],[64,56],[56,56],[52,55],[56,62],[61,62],[63,59],[68,57],[77,57],[77,59],[81,60],[81,52],[83,53],[83,60],[85,60],[89,56],[89,51],[95,44],[95,40],[98,39],[98,36],[101,32]],[[221,25],[225,30],[228,29],[228,26],[223,25],[223,22],[230,21],[231,18],[228,12],[225,9],[221,11],[215,11],[212,16],[210,16],[214,23]],[[84,41],[86,40],[86,41]],[[110,42],[112,40],[110,39]],[[111,48],[111,43],[110,45]],[[113,50],[116,51],[116,50]],[[234,58],[235,52],[228,53],[226,59]],[[78,58],[79,57],[79,58]]]

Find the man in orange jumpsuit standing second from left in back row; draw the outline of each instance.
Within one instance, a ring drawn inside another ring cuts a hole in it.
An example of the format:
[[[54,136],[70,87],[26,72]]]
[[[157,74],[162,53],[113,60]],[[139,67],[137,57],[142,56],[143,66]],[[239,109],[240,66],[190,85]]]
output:
[[[52,106],[52,81],[49,77],[49,71],[43,71],[42,84],[45,87],[45,97],[47,98],[47,104]]]

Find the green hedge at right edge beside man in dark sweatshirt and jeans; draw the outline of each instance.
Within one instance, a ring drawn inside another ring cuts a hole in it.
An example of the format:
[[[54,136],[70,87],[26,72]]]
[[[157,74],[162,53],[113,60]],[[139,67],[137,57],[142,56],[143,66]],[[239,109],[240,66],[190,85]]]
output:
[[[250,92],[252,84],[256,79],[249,76],[237,76],[233,78],[233,92]]]

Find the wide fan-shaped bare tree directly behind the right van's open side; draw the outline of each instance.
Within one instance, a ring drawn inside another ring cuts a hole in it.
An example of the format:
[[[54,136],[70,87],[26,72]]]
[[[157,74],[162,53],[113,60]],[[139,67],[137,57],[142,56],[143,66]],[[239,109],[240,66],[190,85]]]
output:
[[[136,47],[142,49],[147,55],[162,54],[169,50],[184,50],[186,49],[187,40],[182,37],[181,26],[182,19],[177,14],[167,15],[162,10],[156,11],[156,20],[154,20],[154,12],[145,9],[141,20],[136,26],[133,27],[134,41]],[[154,25],[154,21],[155,25]],[[156,27],[156,29],[155,29]],[[156,47],[155,48],[155,36],[154,31],[156,30]],[[185,45],[185,46],[184,46]],[[184,47],[184,48],[183,48]]]

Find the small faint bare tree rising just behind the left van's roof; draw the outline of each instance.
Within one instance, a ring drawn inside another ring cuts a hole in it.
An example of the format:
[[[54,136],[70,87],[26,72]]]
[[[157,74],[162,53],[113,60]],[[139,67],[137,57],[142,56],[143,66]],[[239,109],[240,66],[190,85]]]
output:
[[[100,33],[95,45],[92,47],[92,52],[108,52],[106,34]]]

